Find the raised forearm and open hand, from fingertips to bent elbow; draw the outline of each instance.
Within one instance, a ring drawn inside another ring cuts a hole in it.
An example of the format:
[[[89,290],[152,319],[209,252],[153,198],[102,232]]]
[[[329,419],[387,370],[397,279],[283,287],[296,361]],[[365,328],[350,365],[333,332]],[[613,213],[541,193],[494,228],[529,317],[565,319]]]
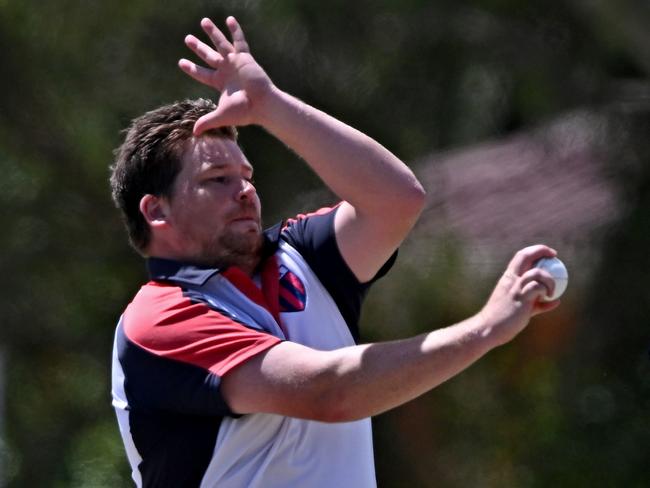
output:
[[[181,69],[221,92],[217,108],[197,120],[194,133],[259,124],[301,156],[359,215],[401,215],[414,221],[424,191],[406,165],[361,132],[279,90],[250,54],[237,21],[230,17],[226,23],[232,43],[209,19],[201,26],[214,49],[194,36],[185,39],[209,67],[183,59]]]

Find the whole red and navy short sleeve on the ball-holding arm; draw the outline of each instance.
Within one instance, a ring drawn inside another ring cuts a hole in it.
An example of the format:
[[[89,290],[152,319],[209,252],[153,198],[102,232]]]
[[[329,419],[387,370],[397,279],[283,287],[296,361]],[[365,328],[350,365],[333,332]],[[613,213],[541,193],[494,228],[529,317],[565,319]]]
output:
[[[146,409],[226,415],[221,378],[280,342],[236,322],[180,287],[147,285],[118,328],[118,357],[129,404]]]

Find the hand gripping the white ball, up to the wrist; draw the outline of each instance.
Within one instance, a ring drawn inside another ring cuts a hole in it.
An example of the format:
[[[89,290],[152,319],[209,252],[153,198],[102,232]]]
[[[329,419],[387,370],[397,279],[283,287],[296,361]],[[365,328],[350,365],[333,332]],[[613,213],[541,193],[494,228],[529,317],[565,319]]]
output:
[[[552,258],[556,251],[545,245],[518,251],[497,283],[489,300],[479,312],[484,330],[493,334],[499,344],[513,339],[531,317],[556,308],[559,300],[543,302],[552,295],[555,281],[548,271],[534,267],[541,258]]]

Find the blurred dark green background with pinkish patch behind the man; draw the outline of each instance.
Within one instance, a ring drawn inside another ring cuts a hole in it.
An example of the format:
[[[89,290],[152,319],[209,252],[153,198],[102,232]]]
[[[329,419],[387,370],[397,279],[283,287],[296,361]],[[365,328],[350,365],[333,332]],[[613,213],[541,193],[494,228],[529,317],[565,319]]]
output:
[[[374,419],[379,485],[650,486],[647,1],[0,0],[2,486],[131,486],[109,367],[145,273],[108,167],[133,117],[214,96],[176,62],[228,14],[428,191],[365,341],[475,313],[525,245],[569,267],[560,309]],[[262,130],[241,142],[268,224],[334,202]]]

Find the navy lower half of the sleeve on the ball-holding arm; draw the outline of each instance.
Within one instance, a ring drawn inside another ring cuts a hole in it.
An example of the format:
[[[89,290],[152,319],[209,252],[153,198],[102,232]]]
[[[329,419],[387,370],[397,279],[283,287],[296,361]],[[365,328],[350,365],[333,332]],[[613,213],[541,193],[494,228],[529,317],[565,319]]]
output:
[[[131,409],[232,415],[219,393],[220,379],[210,371],[150,353],[131,342],[121,326],[117,348]]]

